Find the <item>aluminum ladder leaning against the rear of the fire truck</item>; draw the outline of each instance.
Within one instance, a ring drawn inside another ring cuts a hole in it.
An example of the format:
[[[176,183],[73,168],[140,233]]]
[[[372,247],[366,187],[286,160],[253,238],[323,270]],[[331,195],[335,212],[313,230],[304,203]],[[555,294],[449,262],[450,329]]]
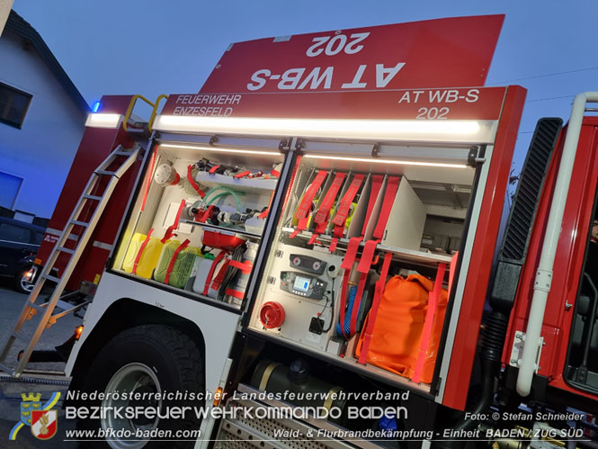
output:
[[[49,255],[46,265],[44,265],[44,267],[41,269],[40,274],[38,275],[38,280],[35,283],[35,287],[31,291],[27,301],[25,301],[21,316],[14,326],[13,333],[10,335],[10,337],[8,337],[4,349],[2,350],[2,355],[0,355],[0,370],[4,371],[4,373],[9,373],[14,378],[20,377],[25,369],[25,365],[31,357],[31,353],[40,340],[44,329],[51,327],[54,323],[56,323],[57,319],[81,309],[90,302],[84,301],[72,307],[71,309],[66,309],[53,314],[57,304],[59,307],[65,304],[63,301],[58,301],[62,295],[62,292],[64,292],[65,287],[67,286],[68,278],[73,273],[79,258],[85,250],[89,238],[91,238],[92,234],[94,233],[95,225],[97,224],[98,220],[100,220],[100,216],[102,215],[102,212],[106,207],[106,204],[108,203],[116,184],[119,182],[120,176],[124,175],[129,167],[133,165],[140,150],[141,148],[138,146],[135,148],[126,149],[119,145],[112,150],[112,153],[106,157],[103,163],[95,169],[94,173],[89,178],[84,193],[76,203],[75,209],[67,221],[67,226],[62,230],[56,245]],[[114,168],[115,166],[116,168]],[[101,188],[101,185],[99,185],[98,182],[103,177],[108,178],[108,184],[105,185],[103,193],[94,194],[94,189]],[[90,203],[90,207],[85,210],[85,205],[88,203]],[[84,212],[86,216],[88,216],[89,212],[91,212],[91,218],[89,220],[85,220],[85,218],[82,218],[84,215],[82,212]],[[80,227],[83,229],[83,232],[79,236],[76,247],[73,249],[67,248],[67,240],[75,227]],[[62,275],[57,277],[51,273],[58,260],[58,256],[61,253],[66,253],[68,255],[68,262]],[[51,293],[47,302],[36,303],[40,296],[41,289],[44,286],[44,283],[47,281],[57,283],[56,288],[54,289],[54,292]],[[30,339],[21,333],[21,329],[25,324],[25,321],[31,319],[37,313],[40,313],[41,319],[37,325],[37,328],[35,328],[33,336]],[[8,354],[16,340],[22,340],[28,343],[27,347],[22,352],[22,355],[18,361],[18,365],[16,367],[12,367],[6,364],[6,358],[8,357]]]

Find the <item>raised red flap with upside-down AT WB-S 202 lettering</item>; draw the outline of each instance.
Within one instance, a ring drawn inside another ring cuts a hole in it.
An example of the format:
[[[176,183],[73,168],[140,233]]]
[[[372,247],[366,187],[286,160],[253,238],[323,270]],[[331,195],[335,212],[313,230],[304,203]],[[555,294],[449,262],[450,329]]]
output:
[[[504,15],[325,31],[232,44],[207,93],[484,85]]]

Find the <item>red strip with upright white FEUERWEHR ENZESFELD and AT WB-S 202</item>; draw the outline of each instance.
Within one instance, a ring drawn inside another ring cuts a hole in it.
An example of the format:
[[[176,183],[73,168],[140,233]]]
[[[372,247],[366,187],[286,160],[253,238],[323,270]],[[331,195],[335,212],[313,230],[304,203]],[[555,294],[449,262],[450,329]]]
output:
[[[173,94],[162,114],[311,119],[498,120],[505,87],[374,92]]]

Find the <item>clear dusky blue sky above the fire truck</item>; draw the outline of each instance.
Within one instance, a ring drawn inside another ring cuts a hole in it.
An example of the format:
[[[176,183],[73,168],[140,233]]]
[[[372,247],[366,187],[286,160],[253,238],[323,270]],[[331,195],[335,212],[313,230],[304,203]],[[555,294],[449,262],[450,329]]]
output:
[[[567,120],[575,94],[598,90],[598,2],[14,0],[88,103],[103,94],[197,92],[228,44],[461,15],[504,13],[486,85],[528,89],[516,165],[535,121]]]

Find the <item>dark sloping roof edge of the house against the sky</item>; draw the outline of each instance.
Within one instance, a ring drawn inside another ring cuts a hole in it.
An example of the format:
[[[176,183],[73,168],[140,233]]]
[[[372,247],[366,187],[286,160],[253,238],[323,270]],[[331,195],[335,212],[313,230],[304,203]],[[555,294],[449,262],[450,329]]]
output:
[[[35,31],[29,22],[26,22],[22,17],[11,11],[8,15],[8,21],[4,26],[4,31],[12,31],[14,34],[21,36],[22,39],[31,42],[33,48],[37,50],[40,58],[46,63],[50,71],[58,79],[58,83],[67,91],[68,96],[71,97],[76,107],[83,113],[90,112],[89,104],[85,102],[85,98],[73,84],[73,81],[68,77],[67,72],[60,66],[58,59],[52,54],[46,42],[41,39],[40,33]]]

